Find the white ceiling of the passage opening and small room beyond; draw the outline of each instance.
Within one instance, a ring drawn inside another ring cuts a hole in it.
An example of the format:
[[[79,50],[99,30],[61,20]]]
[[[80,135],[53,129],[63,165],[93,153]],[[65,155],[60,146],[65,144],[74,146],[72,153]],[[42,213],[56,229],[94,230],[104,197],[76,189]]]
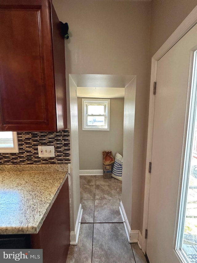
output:
[[[70,74],[77,86],[77,97],[124,98],[124,88],[133,75]]]

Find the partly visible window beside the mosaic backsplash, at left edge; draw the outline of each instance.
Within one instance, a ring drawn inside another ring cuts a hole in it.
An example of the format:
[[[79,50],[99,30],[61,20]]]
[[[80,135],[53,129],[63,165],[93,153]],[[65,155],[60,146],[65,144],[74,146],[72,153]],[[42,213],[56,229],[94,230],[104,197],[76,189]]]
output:
[[[0,153],[18,153],[16,132],[0,132]]]

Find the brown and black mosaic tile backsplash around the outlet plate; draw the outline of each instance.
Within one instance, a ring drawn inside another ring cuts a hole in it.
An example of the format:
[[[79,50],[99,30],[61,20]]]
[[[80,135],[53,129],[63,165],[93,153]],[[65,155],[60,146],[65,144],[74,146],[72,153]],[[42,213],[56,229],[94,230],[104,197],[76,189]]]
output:
[[[70,163],[69,129],[59,132],[17,132],[18,153],[0,153],[0,164]],[[55,157],[38,157],[38,145],[54,145]]]

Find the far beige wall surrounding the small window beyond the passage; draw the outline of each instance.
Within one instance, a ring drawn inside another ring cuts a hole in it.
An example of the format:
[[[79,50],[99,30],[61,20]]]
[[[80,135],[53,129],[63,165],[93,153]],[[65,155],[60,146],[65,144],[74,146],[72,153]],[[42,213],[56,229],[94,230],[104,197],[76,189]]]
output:
[[[79,169],[103,169],[103,151],[123,155],[124,99],[110,99],[110,130],[82,130],[82,98],[78,98]]]

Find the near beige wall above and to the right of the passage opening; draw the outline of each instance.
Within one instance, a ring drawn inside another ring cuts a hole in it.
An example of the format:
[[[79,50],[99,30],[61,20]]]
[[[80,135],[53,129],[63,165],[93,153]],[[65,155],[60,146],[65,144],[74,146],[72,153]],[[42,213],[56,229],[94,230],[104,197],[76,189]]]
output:
[[[53,0],[58,18],[69,25],[65,41],[66,78],[68,74],[136,75],[136,150],[134,181],[143,180],[146,101],[151,2]],[[143,192],[132,199],[132,229],[140,229]],[[131,205],[131,204],[130,204]]]

